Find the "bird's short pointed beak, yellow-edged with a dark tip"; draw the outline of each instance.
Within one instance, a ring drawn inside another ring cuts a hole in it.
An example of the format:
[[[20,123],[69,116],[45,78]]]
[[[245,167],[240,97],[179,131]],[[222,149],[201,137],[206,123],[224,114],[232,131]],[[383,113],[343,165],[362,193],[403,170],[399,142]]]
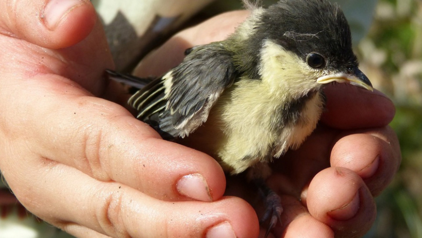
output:
[[[373,91],[371,81],[362,73],[357,67],[353,69],[352,74],[337,73],[333,75],[326,75],[317,79],[318,83],[326,84],[329,82],[346,82],[352,85],[363,87],[367,90]]]

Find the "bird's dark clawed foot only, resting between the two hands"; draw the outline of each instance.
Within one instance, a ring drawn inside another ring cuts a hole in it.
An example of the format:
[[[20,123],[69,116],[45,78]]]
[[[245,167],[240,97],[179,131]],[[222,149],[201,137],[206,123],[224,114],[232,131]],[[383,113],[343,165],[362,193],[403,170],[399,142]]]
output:
[[[281,213],[283,212],[283,208],[281,207],[281,198],[277,193],[272,190],[268,191],[267,196],[265,197],[265,213],[262,216],[260,223],[264,223],[270,220],[268,224],[267,232],[265,233],[265,237],[267,238],[270,234],[271,230],[276,227],[277,222],[281,224]]]

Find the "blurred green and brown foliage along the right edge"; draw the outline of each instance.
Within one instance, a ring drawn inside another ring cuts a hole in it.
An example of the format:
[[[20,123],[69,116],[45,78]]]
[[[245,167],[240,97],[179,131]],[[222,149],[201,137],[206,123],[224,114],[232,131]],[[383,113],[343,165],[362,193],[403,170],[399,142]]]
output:
[[[377,198],[368,238],[422,238],[422,1],[379,0],[357,46],[362,71],[397,108],[391,126],[402,150],[393,183]]]

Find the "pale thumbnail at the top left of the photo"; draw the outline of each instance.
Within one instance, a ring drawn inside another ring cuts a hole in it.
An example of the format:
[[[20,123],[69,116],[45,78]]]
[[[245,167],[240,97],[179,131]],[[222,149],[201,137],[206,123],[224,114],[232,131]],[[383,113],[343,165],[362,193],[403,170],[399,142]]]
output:
[[[81,0],[50,0],[44,7],[43,17],[45,24],[50,30],[53,30],[60,20],[72,8],[83,4]]]

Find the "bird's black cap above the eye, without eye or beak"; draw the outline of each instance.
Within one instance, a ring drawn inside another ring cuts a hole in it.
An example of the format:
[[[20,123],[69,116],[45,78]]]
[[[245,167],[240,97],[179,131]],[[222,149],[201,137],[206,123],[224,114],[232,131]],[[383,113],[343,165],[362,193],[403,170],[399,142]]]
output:
[[[266,37],[302,57],[311,52],[330,60],[327,67],[357,66],[343,11],[327,0],[280,0],[261,16]]]

